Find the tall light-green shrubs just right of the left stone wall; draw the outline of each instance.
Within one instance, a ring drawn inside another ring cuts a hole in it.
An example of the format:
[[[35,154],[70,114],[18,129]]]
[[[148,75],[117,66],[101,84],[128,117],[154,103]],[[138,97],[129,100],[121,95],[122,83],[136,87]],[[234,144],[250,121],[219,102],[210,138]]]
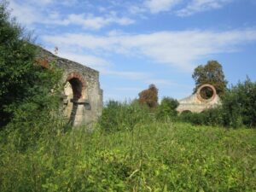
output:
[[[149,113],[147,106],[138,102],[109,101],[102,110],[99,125],[103,131],[113,132],[121,130],[133,130],[137,124],[151,122],[154,113]]]

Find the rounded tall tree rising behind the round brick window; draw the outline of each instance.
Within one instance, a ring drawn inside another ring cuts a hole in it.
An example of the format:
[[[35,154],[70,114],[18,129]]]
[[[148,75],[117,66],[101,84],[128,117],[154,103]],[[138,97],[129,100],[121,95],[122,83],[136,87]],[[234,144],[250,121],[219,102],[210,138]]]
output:
[[[206,65],[196,67],[192,78],[195,79],[195,92],[202,84],[212,84],[218,95],[224,95],[227,81],[224,77],[223,68],[218,61],[207,61]],[[206,95],[208,94],[206,93]]]

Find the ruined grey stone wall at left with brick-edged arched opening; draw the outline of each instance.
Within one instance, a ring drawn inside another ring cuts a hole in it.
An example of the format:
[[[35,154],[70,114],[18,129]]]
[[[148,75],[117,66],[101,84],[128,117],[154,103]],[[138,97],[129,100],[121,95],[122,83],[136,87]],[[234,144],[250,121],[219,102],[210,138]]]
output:
[[[53,55],[39,48],[38,59],[44,67],[54,61],[63,70],[63,113],[68,121],[76,125],[87,125],[102,113],[102,90],[99,72],[74,61]]]

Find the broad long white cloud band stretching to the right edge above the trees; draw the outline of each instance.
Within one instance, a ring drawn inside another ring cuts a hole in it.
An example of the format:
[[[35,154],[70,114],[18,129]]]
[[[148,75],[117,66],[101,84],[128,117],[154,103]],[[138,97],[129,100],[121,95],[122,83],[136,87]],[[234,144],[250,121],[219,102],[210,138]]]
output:
[[[256,41],[256,30],[154,32],[139,35],[96,36],[65,33],[42,37],[56,46],[79,47],[108,54],[145,56],[184,72],[191,72],[197,60],[213,54],[236,51],[241,44]]]

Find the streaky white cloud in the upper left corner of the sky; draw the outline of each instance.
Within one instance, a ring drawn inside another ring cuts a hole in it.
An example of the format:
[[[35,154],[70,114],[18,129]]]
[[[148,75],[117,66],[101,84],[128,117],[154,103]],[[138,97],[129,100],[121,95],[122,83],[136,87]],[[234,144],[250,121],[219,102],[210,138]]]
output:
[[[62,3],[66,2],[68,3],[68,1],[63,1]],[[17,3],[17,1],[11,0],[9,7],[13,9],[12,14],[18,18],[22,24],[27,26],[37,23],[62,26],[77,25],[82,26],[84,29],[97,30],[111,24],[126,26],[135,23],[135,20],[131,20],[125,16],[119,16],[114,12],[103,16],[96,16],[92,14],[70,14],[63,16],[59,12],[55,11],[53,7],[55,3],[55,0],[36,2],[26,0],[23,3]],[[75,0],[71,3],[75,3]]]

